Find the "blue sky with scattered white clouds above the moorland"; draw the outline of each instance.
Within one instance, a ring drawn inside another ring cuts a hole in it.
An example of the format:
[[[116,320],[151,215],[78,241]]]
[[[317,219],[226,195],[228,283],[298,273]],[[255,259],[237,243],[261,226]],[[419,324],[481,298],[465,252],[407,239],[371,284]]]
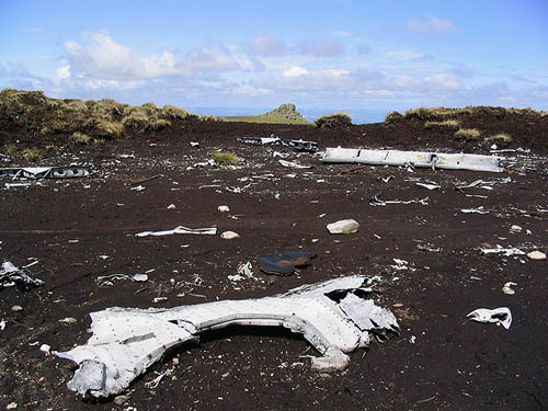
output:
[[[548,110],[548,1],[0,1],[0,88],[132,104]]]

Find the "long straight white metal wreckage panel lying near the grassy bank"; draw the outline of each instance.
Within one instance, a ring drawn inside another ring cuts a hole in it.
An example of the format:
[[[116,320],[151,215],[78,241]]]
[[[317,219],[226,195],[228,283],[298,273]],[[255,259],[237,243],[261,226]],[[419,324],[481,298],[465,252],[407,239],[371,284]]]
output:
[[[503,157],[426,151],[327,148],[321,161],[370,165],[412,165],[432,169],[503,172]]]

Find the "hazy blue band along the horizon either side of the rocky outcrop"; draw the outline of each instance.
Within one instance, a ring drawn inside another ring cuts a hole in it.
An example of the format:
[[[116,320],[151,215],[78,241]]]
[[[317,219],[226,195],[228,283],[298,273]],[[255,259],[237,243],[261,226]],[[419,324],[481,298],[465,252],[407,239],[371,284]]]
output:
[[[193,114],[198,115],[215,115],[215,116],[230,116],[230,115],[256,115],[272,111],[272,107],[202,107],[202,106],[189,106],[185,107]],[[297,107],[297,111],[302,114],[302,116],[309,121],[313,122],[321,115],[334,114],[338,112],[344,112],[350,114],[353,124],[368,124],[368,123],[383,123],[386,115],[390,112],[388,110],[378,109],[301,109]]]

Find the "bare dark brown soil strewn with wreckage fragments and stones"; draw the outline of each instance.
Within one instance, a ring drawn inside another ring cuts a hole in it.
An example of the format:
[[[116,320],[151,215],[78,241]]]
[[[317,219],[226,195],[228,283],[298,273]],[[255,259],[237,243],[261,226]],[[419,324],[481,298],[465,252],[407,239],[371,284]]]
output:
[[[545,409],[547,261],[486,256],[480,248],[548,251],[547,167],[539,157],[548,153],[547,117],[533,122],[525,115],[500,116],[486,110],[463,124],[486,134],[509,133],[511,148],[532,150],[506,153],[520,156],[506,173],[328,165],[318,156],[276,148],[287,160],[313,167],[295,170],[282,167],[273,148],[236,141],[274,133],[318,141],[320,149],[340,145],[486,152],[477,142],[426,130],[419,121],[342,130],[186,121],[161,133],[91,147],[68,146],[64,136],[41,141],[4,124],[3,144],[52,145],[42,164],[88,164],[96,174],[27,187],[8,189],[10,181],[0,181],[0,256],[18,266],[38,260],[28,271],[45,281],[27,292],[0,290],[0,321],[7,323],[0,331],[1,409],[12,402],[18,410]],[[190,141],[199,147],[191,148]],[[189,169],[218,149],[237,153],[240,165]],[[163,176],[144,183],[144,191],[130,190],[132,182],[157,174]],[[427,191],[414,179],[442,189]],[[492,182],[492,190],[455,190],[457,183],[479,179]],[[369,205],[380,191],[384,199],[429,197],[429,205]],[[168,209],[170,204],[176,208]],[[219,205],[228,205],[230,213],[219,213]],[[489,213],[461,213],[479,206]],[[329,235],[326,225],[345,218],[356,219],[359,231]],[[219,233],[232,230],[241,238],[135,237],[180,225],[217,227]],[[522,231],[511,232],[513,225]],[[318,256],[289,277],[259,271],[256,258],[286,249]],[[397,270],[392,259],[408,261],[408,269]],[[247,261],[258,279],[230,282],[228,275]],[[121,281],[100,288],[95,283],[100,275],[148,271],[146,285]],[[89,313],[107,307],[263,297],[357,273],[383,277],[376,298],[396,313],[402,333],[352,353],[343,373],[312,372],[304,355],[317,353],[299,335],[227,329],[169,353],[130,385],[126,404],[116,406],[113,398],[95,401],[69,391],[73,364],[39,351],[42,344],[66,351],[84,343]],[[189,286],[197,277],[202,283]],[[510,281],[517,283],[515,295],[501,292]],[[158,296],[168,299],[152,302]],[[13,311],[13,306],[23,310]],[[495,307],[512,310],[510,330],[466,318],[473,309]],[[77,322],[60,323],[66,317]],[[145,387],[157,372],[170,368],[173,373],[156,389]]]

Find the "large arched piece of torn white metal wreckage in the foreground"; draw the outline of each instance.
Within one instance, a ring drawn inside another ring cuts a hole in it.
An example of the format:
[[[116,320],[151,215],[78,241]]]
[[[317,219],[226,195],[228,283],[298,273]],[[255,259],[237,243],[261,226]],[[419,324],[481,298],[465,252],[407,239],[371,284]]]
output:
[[[225,300],[165,308],[109,308],[92,312],[93,335],[57,356],[78,364],[68,388],[107,397],[121,392],[167,350],[197,342],[204,331],[229,326],[284,327],[322,354],[316,369],[342,369],[350,353],[369,344],[370,334],[399,333],[391,311],[369,298],[378,277],[354,275],[304,285],[260,299]]]

